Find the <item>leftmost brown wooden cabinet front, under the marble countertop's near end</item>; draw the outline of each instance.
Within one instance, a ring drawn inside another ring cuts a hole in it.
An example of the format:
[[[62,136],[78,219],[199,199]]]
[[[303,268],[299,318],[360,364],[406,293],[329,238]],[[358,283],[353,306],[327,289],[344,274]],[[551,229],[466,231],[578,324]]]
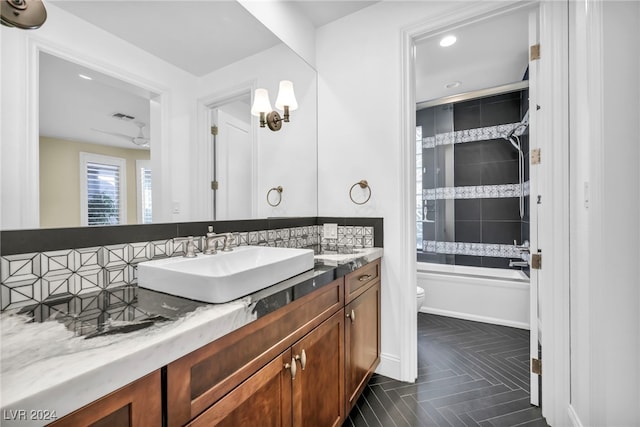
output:
[[[136,380],[49,424],[50,427],[162,425],[160,371]]]

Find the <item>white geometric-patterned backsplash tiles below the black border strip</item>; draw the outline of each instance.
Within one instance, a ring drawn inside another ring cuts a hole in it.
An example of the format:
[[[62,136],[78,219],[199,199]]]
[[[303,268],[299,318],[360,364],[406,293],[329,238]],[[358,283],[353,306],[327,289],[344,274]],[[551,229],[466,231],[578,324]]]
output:
[[[234,246],[301,248],[317,244],[373,247],[373,227],[339,226],[338,239],[321,237],[322,226],[233,233]],[[197,251],[204,236],[194,239]],[[141,261],[184,255],[186,239],[36,252],[0,257],[0,311],[137,283]]]

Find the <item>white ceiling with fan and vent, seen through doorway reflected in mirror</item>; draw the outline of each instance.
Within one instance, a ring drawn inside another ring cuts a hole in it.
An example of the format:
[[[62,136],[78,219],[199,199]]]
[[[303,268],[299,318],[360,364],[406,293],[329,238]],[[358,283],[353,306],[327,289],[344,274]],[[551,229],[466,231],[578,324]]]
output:
[[[148,149],[132,139],[140,124],[149,136],[149,100],[155,94],[44,52],[39,61],[41,136]]]

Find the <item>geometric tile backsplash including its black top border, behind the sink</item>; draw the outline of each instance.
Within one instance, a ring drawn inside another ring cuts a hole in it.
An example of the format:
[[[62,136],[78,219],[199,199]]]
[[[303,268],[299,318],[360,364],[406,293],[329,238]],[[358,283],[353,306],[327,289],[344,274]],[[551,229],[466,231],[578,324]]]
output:
[[[322,237],[338,224],[338,239]],[[381,218],[281,218],[0,232],[0,311],[137,283],[139,262],[182,256],[187,236],[198,249],[208,226],[235,245],[302,248],[381,247]]]

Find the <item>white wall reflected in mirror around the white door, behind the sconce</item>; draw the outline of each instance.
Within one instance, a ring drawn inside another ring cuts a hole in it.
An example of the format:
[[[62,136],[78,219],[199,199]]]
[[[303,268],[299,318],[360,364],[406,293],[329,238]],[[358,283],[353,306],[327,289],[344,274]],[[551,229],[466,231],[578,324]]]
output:
[[[271,106],[275,109],[280,80],[291,80],[294,85],[298,109],[291,111],[291,121],[272,132],[259,127],[259,118],[251,117],[257,146],[257,217],[316,216],[317,214],[317,97],[316,72],[286,45],[280,44],[264,52],[214,71],[199,80],[198,98],[212,99],[216,94],[228,93],[234,88],[265,88],[269,91]],[[253,99],[253,94],[252,94]],[[282,112],[280,112],[282,115]],[[199,152],[194,158],[197,170],[210,166],[209,137],[200,140]],[[194,184],[197,187],[197,183]],[[282,202],[277,207],[267,204],[270,188],[282,186]],[[207,194],[206,189],[198,190]],[[194,202],[195,203],[195,202]],[[200,204],[198,216],[211,218],[210,203]]]

